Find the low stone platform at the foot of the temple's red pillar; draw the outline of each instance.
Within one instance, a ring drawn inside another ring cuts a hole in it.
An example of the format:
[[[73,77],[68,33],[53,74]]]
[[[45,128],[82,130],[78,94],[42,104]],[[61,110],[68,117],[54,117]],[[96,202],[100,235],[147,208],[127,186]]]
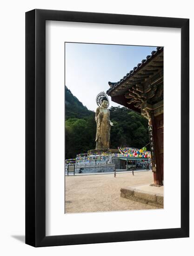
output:
[[[150,184],[136,187],[125,187],[120,189],[120,196],[141,202],[149,205],[154,205],[158,208],[164,207],[163,186],[153,187]]]

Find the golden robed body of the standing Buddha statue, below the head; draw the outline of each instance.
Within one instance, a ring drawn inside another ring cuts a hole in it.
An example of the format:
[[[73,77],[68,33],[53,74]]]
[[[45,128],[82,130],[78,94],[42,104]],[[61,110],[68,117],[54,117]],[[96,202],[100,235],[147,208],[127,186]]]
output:
[[[103,111],[106,109],[107,111]],[[104,113],[105,112],[105,113]],[[107,108],[96,109],[96,149],[110,148],[110,112]]]

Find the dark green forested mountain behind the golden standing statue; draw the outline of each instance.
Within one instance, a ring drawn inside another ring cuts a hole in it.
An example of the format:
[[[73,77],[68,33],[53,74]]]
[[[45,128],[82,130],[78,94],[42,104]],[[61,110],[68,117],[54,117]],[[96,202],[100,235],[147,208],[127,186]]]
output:
[[[142,148],[148,142],[147,119],[125,107],[111,107],[111,148],[120,146]],[[66,159],[95,148],[95,113],[65,88]],[[147,147],[149,149],[149,147]]]

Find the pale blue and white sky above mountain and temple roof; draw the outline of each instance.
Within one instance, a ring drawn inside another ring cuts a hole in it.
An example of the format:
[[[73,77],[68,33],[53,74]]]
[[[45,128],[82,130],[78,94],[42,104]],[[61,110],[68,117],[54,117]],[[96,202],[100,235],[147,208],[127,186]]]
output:
[[[65,82],[68,89],[90,110],[96,96],[107,91],[108,81],[120,81],[156,47],[104,44],[65,44]],[[110,106],[118,104],[110,100]]]

